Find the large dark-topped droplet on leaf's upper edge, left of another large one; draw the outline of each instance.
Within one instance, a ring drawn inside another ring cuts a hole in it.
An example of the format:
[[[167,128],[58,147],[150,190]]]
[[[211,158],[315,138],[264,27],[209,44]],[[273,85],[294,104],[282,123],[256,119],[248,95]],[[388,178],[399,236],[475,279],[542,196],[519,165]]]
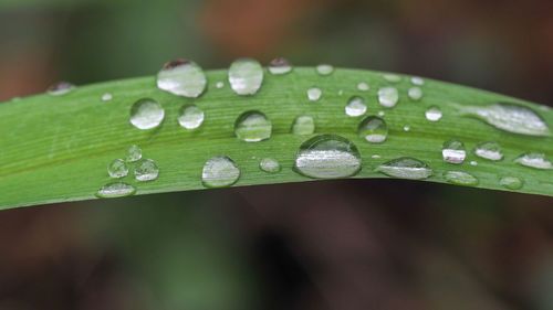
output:
[[[157,87],[177,96],[197,98],[204,93],[206,85],[204,70],[191,61],[166,63],[157,73]]]

